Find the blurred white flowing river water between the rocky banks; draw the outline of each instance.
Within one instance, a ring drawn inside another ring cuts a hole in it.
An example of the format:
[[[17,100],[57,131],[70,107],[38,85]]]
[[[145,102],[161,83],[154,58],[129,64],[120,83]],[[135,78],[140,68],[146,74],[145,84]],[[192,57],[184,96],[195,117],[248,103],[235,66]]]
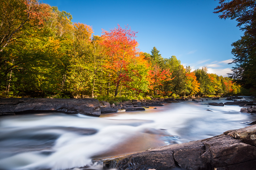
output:
[[[241,113],[239,106],[206,104],[227,102],[223,99],[165,103],[157,109],[100,117],[64,113],[0,117],[0,170],[97,169],[93,158],[209,138],[256,121],[255,114]]]

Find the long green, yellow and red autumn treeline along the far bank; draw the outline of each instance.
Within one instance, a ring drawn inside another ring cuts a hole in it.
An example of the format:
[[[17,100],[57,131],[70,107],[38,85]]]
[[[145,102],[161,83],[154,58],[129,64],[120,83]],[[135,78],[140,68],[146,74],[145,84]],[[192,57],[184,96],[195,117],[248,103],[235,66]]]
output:
[[[228,77],[192,72],[154,47],[140,52],[130,27],[92,35],[89,25],[37,0],[0,0],[0,96],[209,96],[238,94]]]

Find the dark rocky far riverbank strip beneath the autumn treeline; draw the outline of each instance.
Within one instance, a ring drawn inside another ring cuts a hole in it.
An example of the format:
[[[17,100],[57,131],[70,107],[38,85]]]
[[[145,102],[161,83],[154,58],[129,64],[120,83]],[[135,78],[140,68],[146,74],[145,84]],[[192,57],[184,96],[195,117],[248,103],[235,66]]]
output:
[[[118,110],[126,111],[141,111],[149,106],[164,106],[164,103],[174,103],[179,101],[188,101],[188,98],[181,97],[174,98],[153,98],[151,100],[128,100],[110,104],[105,101],[98,101],[94,98],[82,99],[58,99],[58,98],[0,98],[0,116],[28,114],[38,112],[64,112],[68,114],[84,114],[89,116],[99,117],[104,113],[113,113]],[[224,106],[224,105],[239,105],[243,107],[241,112],[255,113],[256,101],[237,101],[241,97],[228,97],[226,100],[233,100],[232,102],[216,103],[210,102],[209,105]],[[190,99],[191,100],[191,99]],[[208,100],[208,99],[206,99]],[[212,98],[212,100],[219,100],[219,97]],[[204,99],[192,99],[192,101],[199,103]]]

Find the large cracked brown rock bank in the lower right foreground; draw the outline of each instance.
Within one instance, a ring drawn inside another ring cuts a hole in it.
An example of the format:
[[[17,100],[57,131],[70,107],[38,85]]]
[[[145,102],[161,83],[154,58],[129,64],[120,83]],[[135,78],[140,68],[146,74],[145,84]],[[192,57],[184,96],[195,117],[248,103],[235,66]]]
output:
[[[161,146],[144,152],[94,159],[105,169],[255,170],[256,125],[198,141]]]

